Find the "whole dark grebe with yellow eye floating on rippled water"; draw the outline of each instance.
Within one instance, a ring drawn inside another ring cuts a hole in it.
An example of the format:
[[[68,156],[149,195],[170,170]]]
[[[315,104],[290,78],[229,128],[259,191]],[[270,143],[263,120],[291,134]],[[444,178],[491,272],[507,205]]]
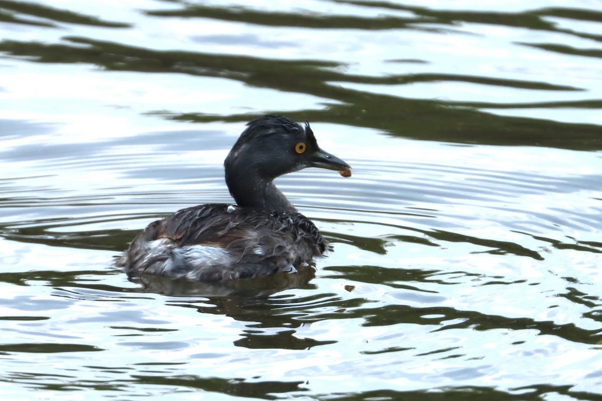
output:
[[[247,124],[224,162],[237,205],[203,204],[152,222],[117,260],[130,277],[162,275],[205,282],[294,271],[327,242],[273,183],[306,167],[351,167],[318,147],[314,133],[281,115]]]

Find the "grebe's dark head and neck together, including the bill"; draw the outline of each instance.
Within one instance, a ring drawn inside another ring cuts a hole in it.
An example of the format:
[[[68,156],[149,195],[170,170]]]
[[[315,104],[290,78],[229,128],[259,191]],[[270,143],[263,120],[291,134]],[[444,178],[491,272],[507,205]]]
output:
[[[265,115],[247,124],[224,162],[226,184],[239,206],[294,211],[272,180],[306,167],[338,170],[351,167],[318,147],[314,132],[282,115]]]

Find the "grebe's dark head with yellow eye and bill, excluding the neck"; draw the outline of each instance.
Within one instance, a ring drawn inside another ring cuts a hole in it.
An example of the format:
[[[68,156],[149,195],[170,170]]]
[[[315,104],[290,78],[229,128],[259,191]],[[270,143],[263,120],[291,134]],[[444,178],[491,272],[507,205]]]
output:
[[[350,171],[351,167],[324,152],[314,132],[282,115],[265,115],[247,124],[224,163],[232,169],[253,170],[261,178],[275,179],[306,167]]]

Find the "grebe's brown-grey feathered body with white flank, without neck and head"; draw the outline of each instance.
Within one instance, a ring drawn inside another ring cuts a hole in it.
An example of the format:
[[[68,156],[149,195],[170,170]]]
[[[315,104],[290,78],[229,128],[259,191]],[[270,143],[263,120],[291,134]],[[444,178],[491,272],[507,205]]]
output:
[[[130,277],[228,281],[290,271],[326,246],[300,213],[205,204],[149,224],[117,265]]]

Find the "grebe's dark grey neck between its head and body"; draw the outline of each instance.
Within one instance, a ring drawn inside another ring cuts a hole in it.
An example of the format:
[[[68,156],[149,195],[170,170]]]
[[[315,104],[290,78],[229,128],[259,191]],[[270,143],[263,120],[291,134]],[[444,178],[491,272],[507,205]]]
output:
[[[250,171],[245,174],[226,172],[226,184],[238,206],[270,212],[297,212],[272,179],[259,177]]]

